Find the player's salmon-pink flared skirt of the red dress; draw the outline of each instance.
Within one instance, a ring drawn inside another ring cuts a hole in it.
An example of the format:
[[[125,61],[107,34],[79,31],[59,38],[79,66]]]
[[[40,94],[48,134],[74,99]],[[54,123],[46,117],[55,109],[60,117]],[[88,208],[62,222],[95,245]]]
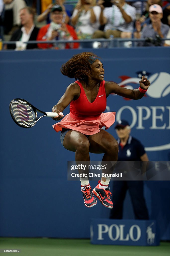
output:
[[[103,126],[106,127],[106,130],[114,123],[116,112],[107,112],[102,113],[98,119],[94,120],[76,120],[76,116],[72,117],[70,114],[67,114],[63,117],[63,119],[54,124],[53,128],[56,132],[65,129],[71,129],[74,131],[79,131],[86,135],[93,135],[95,133],[100,132]]]

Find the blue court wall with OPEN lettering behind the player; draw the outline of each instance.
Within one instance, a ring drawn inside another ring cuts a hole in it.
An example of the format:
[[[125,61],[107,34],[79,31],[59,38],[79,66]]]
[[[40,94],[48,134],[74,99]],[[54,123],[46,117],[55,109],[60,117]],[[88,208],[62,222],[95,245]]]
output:
[[[59,134],[52,128],[54,121],[43,118],[33,128],[23,129],[9,113],[9,102],[14,98],[51,111],[74,81],[62,76],[59,68],[81,51],[0,52],[0,236],[89,238],[90,218],[109,217],[109,209],[99,202],[91,209],[84,207],[80,182],[67,181],[67,161],[74,160],[74,153],[62,147]],[[152,80],[141,100],[110,95],[107,101],[107,111],[116,111],[117,119],[128,116],[132,135],[145,145],[151,161],[170,160],[169,51],[159,47],[93,50],[104,64],[105,80],[138,88],[141,71]],[[64,114],[68,111],[64,110]],[[108,131],[116,137],[113,127]],[[101,155],[91,154],[91,160],[101,159]],[[170,240],[169,185],[169,181],[145,182],[149,215],[159,221],[162,240]],[[91,186],[95,187],[96,182]],[[124,218],[133,217],[127,194]]]

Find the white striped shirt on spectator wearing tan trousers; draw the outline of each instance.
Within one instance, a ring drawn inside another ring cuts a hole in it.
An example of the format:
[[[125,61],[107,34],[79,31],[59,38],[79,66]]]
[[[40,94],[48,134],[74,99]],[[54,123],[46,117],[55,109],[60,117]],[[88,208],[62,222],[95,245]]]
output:
[[[135,7],[125,3],[122,8],[132,18],[132,22],[126,23],[120,9],[116,5],[112,7],[106,7],[104,9],[104,17],[107,18],[107,23],[104,27],[104,31],[108,29],[117,29],[124,32],[132,32],[134,29],[134,21],[136,19],[136,9]]]

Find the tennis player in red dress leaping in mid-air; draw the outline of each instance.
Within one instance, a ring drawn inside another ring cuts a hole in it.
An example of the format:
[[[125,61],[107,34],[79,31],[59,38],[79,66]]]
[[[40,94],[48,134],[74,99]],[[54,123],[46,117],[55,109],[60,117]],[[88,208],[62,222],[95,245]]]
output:
[[[70,113],[62,121],[53,125],[56,132],[61,131],[61,143],[75,152],[75,161],[90,161],[89,152],[104,153],[102,161],[117,161],[118,143],[106,130],[115,121],[115,112],[102,113],[106,109],[106,98],[115,93],[125,98],[138,100],[143,97],[150,82],[145,76],[139,81],[139,89],[126,89],[114,82],[104,81],[104,68],[99,57],[92,52],[74,55],[61,67],[64,76],[75,78],[52,111],[59,114],[70,104]],[[102,127],[106,130],[103,130]],[[97,200],[102,205],[113,208],[110,199],[109,182],[111,177],[101,178],[98,185],[90,187],[88,177],[80,178],[81,191],[86,207],[93,207]]]

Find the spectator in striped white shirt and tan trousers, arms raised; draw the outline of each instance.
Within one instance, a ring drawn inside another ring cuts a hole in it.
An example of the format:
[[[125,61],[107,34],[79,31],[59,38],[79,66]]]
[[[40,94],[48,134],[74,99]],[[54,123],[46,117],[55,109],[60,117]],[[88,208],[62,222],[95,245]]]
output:
[[[104,26],[104,31],[96,30],[93,38],[109,38],[113,37],[130,38],[133,31],[133,22],[136,18],[135,7],[125,3],[125,0],[111,1],[111,7],[104,7],[103,0],[98,1],[101,7],[99,21]]]

